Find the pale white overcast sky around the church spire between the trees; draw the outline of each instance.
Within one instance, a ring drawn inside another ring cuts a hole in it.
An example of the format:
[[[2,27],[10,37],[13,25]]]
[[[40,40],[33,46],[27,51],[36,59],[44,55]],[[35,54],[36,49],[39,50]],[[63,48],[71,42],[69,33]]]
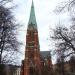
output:
[[[56,15],[53,12],[56,6],[60,5],[62,1],[65,0],[33,0],[41,51],[53,49],[52,41],[48,40],[50,29],[54,28],[59,21],[62,24],[68,22],[69,17],[67,13]],[[18,31],[18,39],[24,43],[24,46],[21,47],[23,53],[25,52],[26,30],[30,16],[31,4],[32,0],[13,0],[12,4],[8,4],[9,6],[17,5],[13,14],[16,21],[23,25]],[[21,57],[21,59],[23,59],[23,57]]]

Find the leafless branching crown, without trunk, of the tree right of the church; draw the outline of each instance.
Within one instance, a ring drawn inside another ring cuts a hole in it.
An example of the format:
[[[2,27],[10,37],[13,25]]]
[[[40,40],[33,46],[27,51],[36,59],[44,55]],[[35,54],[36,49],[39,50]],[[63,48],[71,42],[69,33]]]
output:
[[[58,26],[53,30],[54,34],[51,38],[56,41],[55,45],[57,49],[63,52],[64,58],[75,54],[75,26],[67,27]],[[58,51],[58,50],[57,50]]]

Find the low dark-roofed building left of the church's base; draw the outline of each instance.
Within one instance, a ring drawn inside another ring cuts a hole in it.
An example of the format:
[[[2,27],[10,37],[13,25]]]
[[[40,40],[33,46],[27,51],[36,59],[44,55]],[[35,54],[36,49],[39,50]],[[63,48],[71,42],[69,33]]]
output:
[[[0,75],[20,75],[21,66],[12,64],[0,64]]]

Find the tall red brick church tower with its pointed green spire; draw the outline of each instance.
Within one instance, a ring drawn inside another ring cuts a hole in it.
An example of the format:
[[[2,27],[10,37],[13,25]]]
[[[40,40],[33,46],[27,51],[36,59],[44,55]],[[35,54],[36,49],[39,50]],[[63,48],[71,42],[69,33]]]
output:
[[[40,75],[40,47],[38,39],[38,29],[32,1],[30,18],[26,34],[26,48],[23,75]]]

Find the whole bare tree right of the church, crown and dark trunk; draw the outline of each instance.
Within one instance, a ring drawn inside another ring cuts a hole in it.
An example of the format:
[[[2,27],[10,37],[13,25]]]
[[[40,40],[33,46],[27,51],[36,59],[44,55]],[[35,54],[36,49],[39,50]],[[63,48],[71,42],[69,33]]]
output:
[[[59,70],[64,75],[64,63],[67,57],[75,54],[75,26],[67,28],[65,26],[57,26],[53,29],[52,40],[55,42],[55,53],[57,54],[57,62]],[[61,65],[61,66],[60,66]]]

